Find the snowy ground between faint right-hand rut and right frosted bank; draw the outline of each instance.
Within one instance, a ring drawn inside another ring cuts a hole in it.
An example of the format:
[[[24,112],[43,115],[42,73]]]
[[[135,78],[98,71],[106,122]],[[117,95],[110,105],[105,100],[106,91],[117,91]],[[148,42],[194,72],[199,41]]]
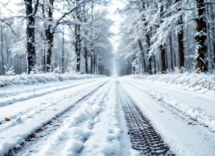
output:
[[[215,131],[215,92],[213,90],[204,92],[203,89],[188,90],[185,89],[187,88],[185,85],[166,85],[138,79],[129,79],[129,82],[156,100],[182,111]]]

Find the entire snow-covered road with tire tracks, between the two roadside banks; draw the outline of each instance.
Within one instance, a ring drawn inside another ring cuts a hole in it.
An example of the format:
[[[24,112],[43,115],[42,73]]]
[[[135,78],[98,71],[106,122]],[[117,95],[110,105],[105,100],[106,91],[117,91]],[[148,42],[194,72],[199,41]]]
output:
[[[215,153],[210,93],[97,78],[8,88],[0,97],[0,156]]]

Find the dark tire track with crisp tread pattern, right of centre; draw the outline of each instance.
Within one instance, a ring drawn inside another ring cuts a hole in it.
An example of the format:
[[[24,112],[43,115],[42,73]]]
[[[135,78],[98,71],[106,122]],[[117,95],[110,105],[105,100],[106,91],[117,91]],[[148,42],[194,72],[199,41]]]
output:
[[[150,121],[119,84],[118,90],[133,149],[140,151],[143,155],[174,155]]]

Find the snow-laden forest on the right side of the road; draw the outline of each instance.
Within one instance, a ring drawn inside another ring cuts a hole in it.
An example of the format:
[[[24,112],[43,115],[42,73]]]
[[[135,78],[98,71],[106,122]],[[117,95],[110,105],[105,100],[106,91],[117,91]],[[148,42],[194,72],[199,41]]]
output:
[[[120,75],[215,72],[214,0],[126,0],[120,13]]]

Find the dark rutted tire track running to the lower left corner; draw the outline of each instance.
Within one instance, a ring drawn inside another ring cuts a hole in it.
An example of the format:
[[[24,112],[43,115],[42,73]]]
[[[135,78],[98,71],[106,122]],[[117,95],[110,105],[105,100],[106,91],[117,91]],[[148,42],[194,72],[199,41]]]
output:
[[[85,102],[94,94],[96,94],[108,82],[109,81],[105,81],[104,83],[99,85],[96,89],[91,91],[89,94],[79,99],[75,104],[72,104],[70,107],[66,108],[63,112],[61,112],[60,114],[52,118],[50,121],[48,121],[46,124],[44,124],[42,127],[37,129],[35,131],[35,137],[31,137],[29,135],[24,139],[24,141],[19,146],[16,146],[13,149],[9,150],[9,152],[4,156],[14,156],[14,155],[21,156],[23,154],[31,155],[34,152],[38,152],[39,150],[41,150],[40,142],[50,139],[50,137],[53,136],[53,133],[55,133],[63,126],[63,120],[65,120],[65,118],[70,117],[72,113],[74,113],[77,109],[79,109],[79,107],[81,107],[83,102]],[[75,107],[76,107],[76,110],[74,110]],[[31,146],[33,146],[33,150],[31,150],[32,149]]]

